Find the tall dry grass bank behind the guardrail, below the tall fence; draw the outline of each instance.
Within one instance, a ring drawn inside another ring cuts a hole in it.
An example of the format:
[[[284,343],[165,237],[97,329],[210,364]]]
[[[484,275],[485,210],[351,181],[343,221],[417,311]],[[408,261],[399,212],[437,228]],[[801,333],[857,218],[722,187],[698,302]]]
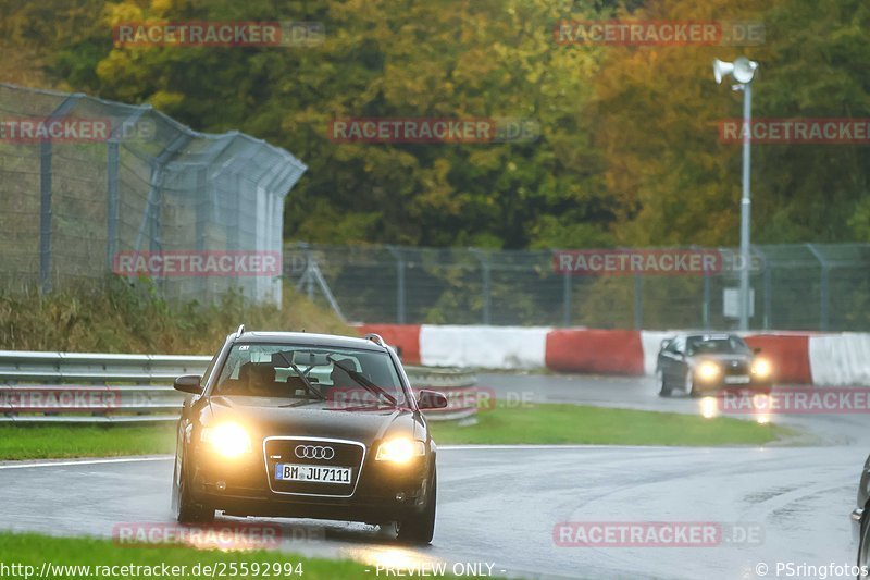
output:
[[[213,306],[167,303],[147,283],[116,279],[46,296],[0,291],[0,349],[211,355],[241,323],[248,330],[359,335],[287,282],[282,308],[237,293]]]

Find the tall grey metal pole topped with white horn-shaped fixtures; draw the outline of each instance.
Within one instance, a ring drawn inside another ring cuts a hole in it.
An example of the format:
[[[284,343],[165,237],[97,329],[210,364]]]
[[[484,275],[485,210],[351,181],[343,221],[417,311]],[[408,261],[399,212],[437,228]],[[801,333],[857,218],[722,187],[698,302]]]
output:
[[[713,76],[718,84],[722,78],[732,75],[736,85],[733,90],[743,90],[743,195],[741,196],[741,294],[739,313],[741,330],[749,329],[749,218],[753,201],[749,196],[749,150],[753,121],[753,77],[758,63],[746,57],[738,57],[734,62],[713,60]]]

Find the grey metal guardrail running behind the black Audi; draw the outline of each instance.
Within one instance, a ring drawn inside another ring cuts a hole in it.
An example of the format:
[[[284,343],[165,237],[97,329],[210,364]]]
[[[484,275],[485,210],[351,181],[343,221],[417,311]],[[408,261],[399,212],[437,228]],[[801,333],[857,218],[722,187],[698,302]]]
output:
[[[174,421],[185,395],[182,374],[201,374],[208,356],[0,350],[0,422],[127,423]],[[415,388],[447,391],[432,420],[476,412],[476,377],[459,369],[406,367]]]

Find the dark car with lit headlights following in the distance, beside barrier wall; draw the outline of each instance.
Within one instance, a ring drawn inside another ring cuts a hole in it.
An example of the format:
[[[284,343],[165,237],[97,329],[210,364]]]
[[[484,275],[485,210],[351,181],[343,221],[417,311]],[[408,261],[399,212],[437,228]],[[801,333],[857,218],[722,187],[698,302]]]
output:
[[[736,334],[678,334],[662,341],[656,361],[659,396],[674,388],[700,396],[723,388],[770,392],[773,369]]]

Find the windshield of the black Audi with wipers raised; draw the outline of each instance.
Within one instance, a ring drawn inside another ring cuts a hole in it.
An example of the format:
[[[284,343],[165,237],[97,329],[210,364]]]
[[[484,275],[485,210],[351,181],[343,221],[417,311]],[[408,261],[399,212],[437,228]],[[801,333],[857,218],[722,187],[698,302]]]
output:
[[[281,397],[288,407],[324,400],[336,409],[403,406],[386,353],[289,344],[236,344],[212,395]]]

